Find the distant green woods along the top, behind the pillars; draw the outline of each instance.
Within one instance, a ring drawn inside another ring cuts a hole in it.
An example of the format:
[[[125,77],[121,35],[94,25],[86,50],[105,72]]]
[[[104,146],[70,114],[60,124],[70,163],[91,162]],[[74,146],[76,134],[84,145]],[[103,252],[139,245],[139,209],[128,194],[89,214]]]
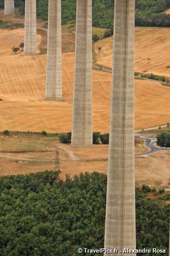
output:
[[[19,7],[24,14],[25,0],[15,0],[15,6]],[[0,0],[3,8],[4,0]],[[61,0],[62,23],[75,20],[76,0]],[[93,26],[113,28],[114,0],[92,0]],[[135,25],[137,26],[170,26],[170,15],[163,14],[170,8],[170,0],[135,0],[136,14]],[[48,19],[48,0],[37,0],[37,17]]]

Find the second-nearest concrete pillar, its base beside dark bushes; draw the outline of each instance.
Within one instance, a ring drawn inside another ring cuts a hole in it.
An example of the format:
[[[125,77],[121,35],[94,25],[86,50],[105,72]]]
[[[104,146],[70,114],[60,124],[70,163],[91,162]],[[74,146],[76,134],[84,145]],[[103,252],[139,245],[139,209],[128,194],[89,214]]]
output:
[[[77,0],[72,147],[92,147],[92,0]]]

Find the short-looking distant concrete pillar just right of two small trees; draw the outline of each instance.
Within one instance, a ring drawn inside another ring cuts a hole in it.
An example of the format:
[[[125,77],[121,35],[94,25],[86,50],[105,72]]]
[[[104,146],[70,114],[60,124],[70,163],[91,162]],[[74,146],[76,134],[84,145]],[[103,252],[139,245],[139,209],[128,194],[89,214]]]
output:
[[[24,55],[37,54],[36,0],[25,3]]]

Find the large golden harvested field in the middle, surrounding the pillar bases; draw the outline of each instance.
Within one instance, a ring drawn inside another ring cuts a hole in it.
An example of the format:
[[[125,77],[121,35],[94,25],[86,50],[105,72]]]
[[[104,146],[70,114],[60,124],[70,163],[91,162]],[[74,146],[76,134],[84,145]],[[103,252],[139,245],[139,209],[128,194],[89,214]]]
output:
[[[46,55],[11,51],[23,41],[23,33],[23,29],[0,30],[0,131],[71,131],[74,53],[62,54],[63,101],[47,102]],[[40,42],[41,36],[37,38]],[[110,73],[93,70],[94,131],[109,131],[110,86]],[[169,99],[169,87],[135,80],[135,128],[170,122]]]

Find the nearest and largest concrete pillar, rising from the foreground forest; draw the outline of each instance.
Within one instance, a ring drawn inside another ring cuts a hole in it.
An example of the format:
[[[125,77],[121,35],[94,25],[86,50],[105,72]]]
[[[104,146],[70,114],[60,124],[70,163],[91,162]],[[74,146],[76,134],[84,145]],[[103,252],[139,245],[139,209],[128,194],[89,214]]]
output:
[[[135,0],[115,0],[105,248],[135,249]],[[120,252],[121,251],[121,252]],[[104,255],[108,255],[105,253]],[[109,254],[110,255],[110,254]],[[127,255],[131,255],[128,253]]]

